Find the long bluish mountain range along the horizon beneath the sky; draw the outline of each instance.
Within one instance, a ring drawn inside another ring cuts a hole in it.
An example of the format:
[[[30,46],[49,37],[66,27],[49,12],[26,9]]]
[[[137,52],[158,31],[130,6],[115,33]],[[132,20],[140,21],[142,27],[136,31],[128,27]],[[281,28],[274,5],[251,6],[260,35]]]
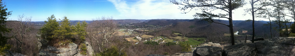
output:
[[[81,20],[71,20],[71,24],[76,24],[76,22],[81,22]],[[158,26],[169,26],[165,29],[170,29],[172,31],[180,32],[186,34],[189,37],[207,37],[208,35],[216,34],[229,34],[229,27],[217,23],[208,23],[204,20],[189,20],[189,19],[154,19],[154,20],[135,20],[135,19],[126,19],[126,20],[115,20],[118,24],[130,24],[134,26],[143,26],[143,25],[158,25]],[[216,22],[228,24],[228,20],[214,20]],[[91,23],[92,21],[86,21]],[[32,22],[34,24],[45,24],[44,21]],[[252,21],[246,22],[245,20],[234,20],[234,31],[245,30],[248,31],[245,34],[252,35]],[[255,33],[257,35],[270,35],[270,26],[265,26],[267,21],[255,21]],[[273,25],[276,27],[277,25]]]

